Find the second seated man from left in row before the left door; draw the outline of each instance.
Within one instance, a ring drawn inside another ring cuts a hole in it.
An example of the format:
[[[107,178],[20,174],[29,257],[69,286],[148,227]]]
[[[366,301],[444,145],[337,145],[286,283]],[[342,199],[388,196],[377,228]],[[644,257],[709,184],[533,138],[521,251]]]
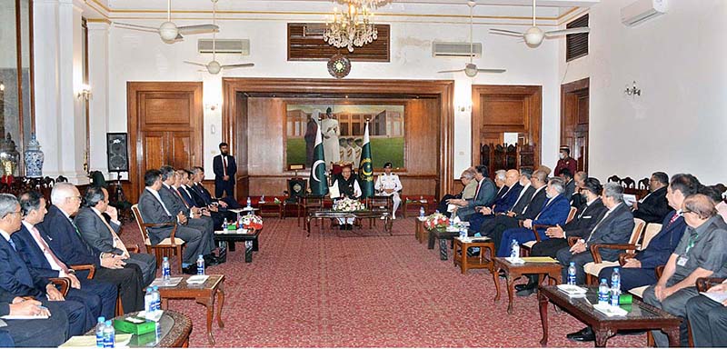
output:
[[[159,189],[159,197],[162,198],[164,206],[170,210],[170,213],[183,214],[186,219],[186,225],[199,230],[202,233],[203,239],[207,240],[210,249],[214,250],[214,221],[212,218],[202,215],[201,210],[194,206],[189,207],[184,202],[182,195],[172,186],[178,184],[178,177],[176,176],[174,168],[171,166],[162,166],[159,172],[162,174],[162,188]],[[220,262],[213,252],[204,254],[205,265],[216,265],[220,264]]]

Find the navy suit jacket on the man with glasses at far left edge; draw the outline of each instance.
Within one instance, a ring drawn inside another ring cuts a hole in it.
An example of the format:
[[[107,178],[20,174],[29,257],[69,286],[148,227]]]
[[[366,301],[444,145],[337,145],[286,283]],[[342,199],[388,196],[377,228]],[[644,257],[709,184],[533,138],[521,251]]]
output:
[[[20,254],[0,236],[0,288],[15,296],[41,297],[46,284],[48,279],[28,269]]]

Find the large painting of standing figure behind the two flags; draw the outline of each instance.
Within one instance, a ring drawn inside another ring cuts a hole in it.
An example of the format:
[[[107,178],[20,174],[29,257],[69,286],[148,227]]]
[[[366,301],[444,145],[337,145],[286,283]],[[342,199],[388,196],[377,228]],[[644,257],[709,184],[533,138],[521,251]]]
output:
[[[373,167],[391,162],[394,168],[404,168],[403,105],[288,104],[286,164],[311,167],[316,125],[320,125],[326,164],[345,162],[358,168],[367,120]]]

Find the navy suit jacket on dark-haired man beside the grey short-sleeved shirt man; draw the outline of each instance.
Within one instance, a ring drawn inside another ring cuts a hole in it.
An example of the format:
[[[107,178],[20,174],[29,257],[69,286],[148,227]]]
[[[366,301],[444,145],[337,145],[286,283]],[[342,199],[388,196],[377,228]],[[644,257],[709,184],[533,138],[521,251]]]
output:
[[[662,222],[662,230],[654,235],[643,251],[636,254],[636,259],[642,263],[642,268],[655,269],[659,265],[666,264],[679,241],[682,240],[687,224],[684,222],[684,217],[679,217],[670,225],[669,221],[672,220],[675,213],[676,211],[672,211],[666,214]]]

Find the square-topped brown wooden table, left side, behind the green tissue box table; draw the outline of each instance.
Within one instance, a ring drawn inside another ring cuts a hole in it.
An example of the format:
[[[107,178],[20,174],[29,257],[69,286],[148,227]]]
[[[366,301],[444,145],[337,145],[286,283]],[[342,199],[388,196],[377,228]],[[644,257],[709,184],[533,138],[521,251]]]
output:
[[[214,318],[214,302],[217,301],[217,325],[224,328],[222,307],[224,305],[224,275],[212,274],[204,284],[187,284],[189,276],[174,287],[159,287],[162,297],[162,309],[167,309],[170,299],[194,299],[198,304],[207,307],[207,339],[214,345],[212,336],[212,320]]]

